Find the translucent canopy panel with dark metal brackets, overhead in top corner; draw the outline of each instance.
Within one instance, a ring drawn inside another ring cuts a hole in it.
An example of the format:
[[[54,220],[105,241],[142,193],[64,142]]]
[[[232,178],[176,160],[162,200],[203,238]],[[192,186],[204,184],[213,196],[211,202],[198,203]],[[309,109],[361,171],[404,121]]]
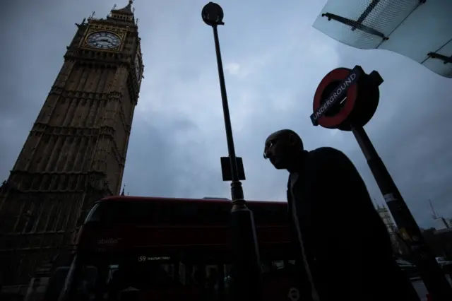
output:
[[[444,64],[452,56],[451,15],[450,0],[329,0],[313,26],[346,45],[397,52],[452,77],[452,63]]]

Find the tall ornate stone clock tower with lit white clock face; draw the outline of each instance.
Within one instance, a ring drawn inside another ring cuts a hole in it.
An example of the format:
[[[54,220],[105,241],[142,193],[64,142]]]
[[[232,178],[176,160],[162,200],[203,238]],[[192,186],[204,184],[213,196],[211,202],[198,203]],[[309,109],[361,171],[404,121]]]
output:
[[[30,282],[73,244],[93,201],[119,194],[143,78],[132,1],[91,16],[64,64],[8,180],[0,188],[0,286]]]

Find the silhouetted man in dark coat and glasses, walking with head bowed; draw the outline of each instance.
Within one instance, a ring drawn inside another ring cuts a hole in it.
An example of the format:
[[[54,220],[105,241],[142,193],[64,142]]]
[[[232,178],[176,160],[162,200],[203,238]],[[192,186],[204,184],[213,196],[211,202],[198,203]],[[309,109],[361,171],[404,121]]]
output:
[[[302,139],[285,129],[268,136],[264,158],[290,172],[287,202],[305,289],[300,300],[419,300],[344,153],[328,147],[304,151]]]

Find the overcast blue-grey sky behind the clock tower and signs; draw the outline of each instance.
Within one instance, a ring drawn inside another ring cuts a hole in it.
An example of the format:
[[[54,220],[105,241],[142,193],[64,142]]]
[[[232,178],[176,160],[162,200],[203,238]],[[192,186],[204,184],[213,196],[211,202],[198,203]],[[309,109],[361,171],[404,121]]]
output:
[[[0,177],[6,179],[76,32],[126,0],[10,1],[0,31]],[[138,0],[145,64],[124,183],[137,196],[230,197],[220,157],[227,155],[207,0]],[[415,218],[433,225],[428,200],[452,218],[452,80],[399,54],[359,50],[311,27],[325,0],[219,2],[219,29],[237,155],[246,199],[285,200],[287,172],[262,158],[273,131],[293,129],[308,150],[333,146],[350,156],[377,202],[383,198],[355,138],[311,125],[316,86],[340,66],[377,70],[379,108],[367,133]],[[11,4],[12,3],[12,4]],[[339,200],[338,200],[339,201]]]

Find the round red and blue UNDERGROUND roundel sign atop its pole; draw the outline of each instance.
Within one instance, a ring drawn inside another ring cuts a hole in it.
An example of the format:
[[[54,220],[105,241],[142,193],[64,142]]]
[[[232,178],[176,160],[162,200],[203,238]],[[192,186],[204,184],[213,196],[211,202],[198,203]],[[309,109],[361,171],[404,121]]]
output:
[[[334,69],[317,87],[312,124],[344,131],[364,126],[376,111],[382,82],[378,72],[368,75],[360,66]]]

